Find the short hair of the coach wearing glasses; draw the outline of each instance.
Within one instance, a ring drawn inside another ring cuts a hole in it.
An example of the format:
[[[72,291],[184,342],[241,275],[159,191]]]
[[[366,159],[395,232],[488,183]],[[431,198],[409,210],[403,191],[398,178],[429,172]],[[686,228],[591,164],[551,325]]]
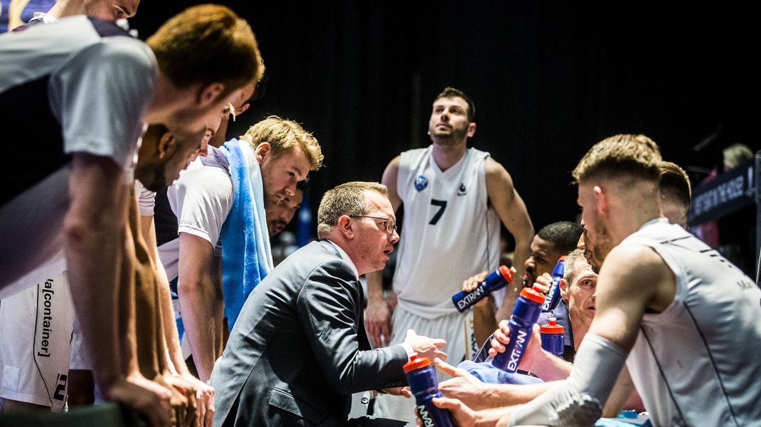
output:
[[[338,223],[342,215],[365,215],[369,207],[365,203],[365,191],[376,191],[388,197],[388,188],[377,182],[346,182],[325,191],[320,207],[317,209],[317,236],[320,236]]]

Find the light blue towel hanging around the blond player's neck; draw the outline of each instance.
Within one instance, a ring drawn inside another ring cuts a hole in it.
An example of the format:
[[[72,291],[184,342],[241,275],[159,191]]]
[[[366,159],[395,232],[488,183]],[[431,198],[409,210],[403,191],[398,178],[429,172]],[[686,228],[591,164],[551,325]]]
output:
[[[234,195],[221,229],[224,314],[232,331],[248,295],[272,271],[272,249],[256,151],[236,139],[225,142],[221,151],[230,162]]]

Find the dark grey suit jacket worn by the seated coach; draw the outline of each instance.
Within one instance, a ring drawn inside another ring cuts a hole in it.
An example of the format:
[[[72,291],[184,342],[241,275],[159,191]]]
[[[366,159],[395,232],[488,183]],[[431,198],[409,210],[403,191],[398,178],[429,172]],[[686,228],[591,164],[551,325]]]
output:
[[[402,346],[371,350],[364,296],[330,242],[256,286],[212,372],[214,425],[344,425],[351,394],[406,384]]]

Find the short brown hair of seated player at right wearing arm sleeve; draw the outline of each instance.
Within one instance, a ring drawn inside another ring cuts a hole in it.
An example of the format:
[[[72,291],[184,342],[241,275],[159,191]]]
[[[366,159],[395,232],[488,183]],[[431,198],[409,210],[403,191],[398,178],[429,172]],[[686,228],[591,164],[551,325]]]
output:
[[[642,134],[617,134],[594,144],[573,169],[576,182],[592,176],[616,177],[622,174],[658,182],[661,176],[661,151]]]

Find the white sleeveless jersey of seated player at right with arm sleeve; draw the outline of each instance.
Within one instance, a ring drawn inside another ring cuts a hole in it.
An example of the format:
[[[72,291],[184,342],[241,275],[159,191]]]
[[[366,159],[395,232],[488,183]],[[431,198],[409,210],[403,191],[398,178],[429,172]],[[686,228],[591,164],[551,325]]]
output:
[[[654,425],[761,425],[761,289],[665,219],[625,244],[653,248],[677,278],[673,302],[645,314],[626,362]]]

